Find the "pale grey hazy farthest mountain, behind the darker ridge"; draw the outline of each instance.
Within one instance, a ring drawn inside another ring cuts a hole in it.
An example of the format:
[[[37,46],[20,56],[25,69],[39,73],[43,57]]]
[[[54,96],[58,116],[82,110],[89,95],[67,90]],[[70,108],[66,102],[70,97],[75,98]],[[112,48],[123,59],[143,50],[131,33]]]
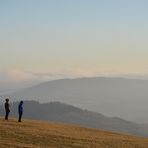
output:
[[[83,109],[148,123],[148,80],[125,78],[78,78],[41,83],[2,96],[16,100],[59,101]]]

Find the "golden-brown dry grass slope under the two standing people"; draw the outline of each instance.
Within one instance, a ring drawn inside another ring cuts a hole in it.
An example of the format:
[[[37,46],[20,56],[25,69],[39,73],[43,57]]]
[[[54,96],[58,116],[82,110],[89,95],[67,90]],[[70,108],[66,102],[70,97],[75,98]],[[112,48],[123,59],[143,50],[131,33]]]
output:
[[[148,148],[148,138],[60,123],[0,118],[1,148]]]

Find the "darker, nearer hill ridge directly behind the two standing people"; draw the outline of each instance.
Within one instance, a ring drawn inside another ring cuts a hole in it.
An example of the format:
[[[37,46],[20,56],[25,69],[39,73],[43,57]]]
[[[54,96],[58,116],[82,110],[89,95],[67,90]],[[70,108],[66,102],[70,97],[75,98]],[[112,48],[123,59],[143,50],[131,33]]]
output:
[[[17,106],[18,102],[11,104],[11,117],[18,116]],[[0,116],[4,116],[3,106],[0,106]],[[60,102],[40,104],[37,101],[25,101],[23,118],[63,122],[148,137],[148,126],[121,118],[109,118],[99,113],[82,110]]]

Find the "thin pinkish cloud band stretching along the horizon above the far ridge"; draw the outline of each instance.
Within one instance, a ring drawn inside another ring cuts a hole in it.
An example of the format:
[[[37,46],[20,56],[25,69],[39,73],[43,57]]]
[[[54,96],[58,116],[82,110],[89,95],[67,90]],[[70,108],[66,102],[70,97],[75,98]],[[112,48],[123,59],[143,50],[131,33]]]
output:
[[[11,70],[8,72],[0,72],[0,81],[10,81],[10,82],[25,82],[25,81],[49,81],[55,79],[63,78],[79,78],[79,77],[130,77],[130,78],[148,78],[148,75],[143,74],[126,74],[126,73],[114,73],[105,71],[90,71],[85,69],[65,69],[59,71],[48,71],[48,72],[32,72],[32,71],[22,71],[22,70]]]

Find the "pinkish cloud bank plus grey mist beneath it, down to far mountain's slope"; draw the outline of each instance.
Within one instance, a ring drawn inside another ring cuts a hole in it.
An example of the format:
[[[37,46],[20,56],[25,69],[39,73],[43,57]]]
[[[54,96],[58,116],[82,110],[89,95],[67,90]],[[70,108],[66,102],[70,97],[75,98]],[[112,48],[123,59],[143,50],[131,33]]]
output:
[[[44,81],[64,79],[64,78],[80,78],[80,77],[124,77],[147,79],[148,74],[124,74],[105,71],[89,71],[84,69],[65,69],[59,71],[32,72],[22,70],[11,70],[0,72],[0,93],[7,91],[15,91],[21,88],[27,88]]]

